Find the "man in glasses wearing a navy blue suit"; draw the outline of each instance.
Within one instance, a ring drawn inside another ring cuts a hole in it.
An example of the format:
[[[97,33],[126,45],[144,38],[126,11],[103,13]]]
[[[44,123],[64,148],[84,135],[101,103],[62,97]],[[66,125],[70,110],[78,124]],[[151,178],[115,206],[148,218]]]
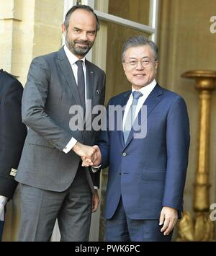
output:
[[[190,141],[186,104],[156,82],[158,48],[144,35],[125,42],[122,63],[132,90],[107,106],[107,124],[117,120],[117,114],[109,115],[111,106],[125,107],[122,131],[117,125],[102,131],[96,161],[83,158],[83,165],[109,166],[107,241],[170,241],[183,210]],[[143,138],[135,123],[146,125]]]

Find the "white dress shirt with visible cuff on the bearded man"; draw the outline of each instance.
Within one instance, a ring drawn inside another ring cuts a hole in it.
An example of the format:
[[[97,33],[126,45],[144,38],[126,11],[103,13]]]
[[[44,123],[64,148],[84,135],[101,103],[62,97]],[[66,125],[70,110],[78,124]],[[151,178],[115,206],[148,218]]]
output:
[[[66,56],[68,58],[68,61],[71,64],[71,68],[73,70],[73,75],[75,77],[76,84],[77,84],[77,80],[78,80],[78,78],[77,78],[78,66],[76,65],[76,61],[83,61],[83,70],[84,70],[84,76],[85,76],[85,92],[87,92],[87,90],[86,90],[86,58],[84,57],[80,60],[75,55],[73,55],[73,53],[71,53],[71,50],[69,50],[66,45],[64,45],[64,50],[66,52]],[[85,100],[86,100],[86,97],[87,97],[87,95],[85,93]],[[73,149],[73,146],[75,146],[76,142],[77,142],[76,139],[72,137],[71,141],[68,142],[68,144],[63,149],[63,151],[66,154],[68,154],[68,152],[71,151],[71,149]]]

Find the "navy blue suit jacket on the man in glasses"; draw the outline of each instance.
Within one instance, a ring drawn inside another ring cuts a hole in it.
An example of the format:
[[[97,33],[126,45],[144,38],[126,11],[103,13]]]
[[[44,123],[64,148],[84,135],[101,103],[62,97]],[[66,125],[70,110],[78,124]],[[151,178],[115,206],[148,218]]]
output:
[[[130,94],[113,97],[107,109],[125,106]],[[121,196],[130,219],[159,219],[163,206],[176,208],[181,216],[190,141],[186,104],[181,96],[157,84],[144,105],[145,138],[134,138],[132,129],[125,144],[122,131],[108,127],[99,138],[102,169],[109,166],[105,219],[112,218]]]

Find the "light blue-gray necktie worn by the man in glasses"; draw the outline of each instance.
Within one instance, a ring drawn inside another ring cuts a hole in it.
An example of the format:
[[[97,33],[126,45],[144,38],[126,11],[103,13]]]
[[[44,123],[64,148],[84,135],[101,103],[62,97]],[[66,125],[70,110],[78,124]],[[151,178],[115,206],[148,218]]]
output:
[[[136,107],[138,105],[138,100],[141,96],[143,96],[143,94],[141,92],[136,92],[136,91],[132,92],[132,97],[133,97],[132,105],[130,106],[130,109],[128,110],[127,118],[125,120],[125,128],[124,128],[124,132],[123,132],[125,144],[127,142],[127,138],[128,138],[129,133],[131,131],[132,124],[135,121]]]

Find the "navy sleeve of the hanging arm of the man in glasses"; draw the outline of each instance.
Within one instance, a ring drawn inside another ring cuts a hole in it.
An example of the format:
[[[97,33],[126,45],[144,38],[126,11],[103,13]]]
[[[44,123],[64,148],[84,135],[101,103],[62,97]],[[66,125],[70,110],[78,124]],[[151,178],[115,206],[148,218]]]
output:
[[[183,194],[189,155],[189,118],[186,104],[176,97],[167,116],[167,169],[163,206],[183,210]]]

